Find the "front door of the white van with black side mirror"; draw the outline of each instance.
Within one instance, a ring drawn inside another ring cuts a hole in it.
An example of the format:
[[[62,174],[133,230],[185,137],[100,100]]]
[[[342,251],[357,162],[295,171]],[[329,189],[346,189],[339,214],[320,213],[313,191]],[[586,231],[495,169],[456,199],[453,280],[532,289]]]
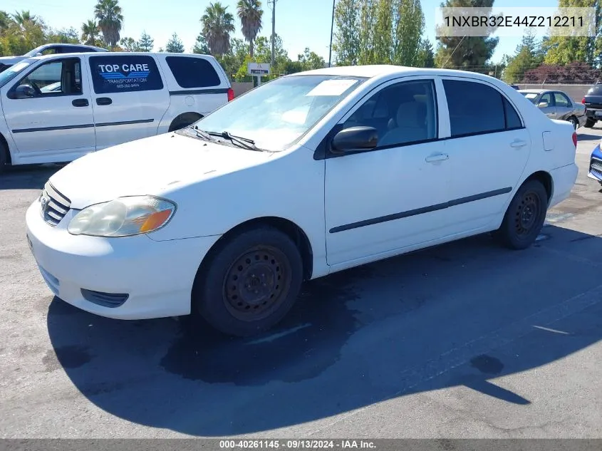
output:
[[[95,148],[90,88],[81,58],[53,59],[2,89],[2,108],[19,160],[67,161]],[[31,95],[16,93],[20,85]]]

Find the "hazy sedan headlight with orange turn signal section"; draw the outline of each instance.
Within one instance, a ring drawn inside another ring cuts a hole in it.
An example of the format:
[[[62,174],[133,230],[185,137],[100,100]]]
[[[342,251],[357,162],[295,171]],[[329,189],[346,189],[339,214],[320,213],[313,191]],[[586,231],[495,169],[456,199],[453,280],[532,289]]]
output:
[[[159,197],[120,197],[84,208],[71,219],[67,229],[73,235],[130,237],[165,226],[175,208],[173,202]]]

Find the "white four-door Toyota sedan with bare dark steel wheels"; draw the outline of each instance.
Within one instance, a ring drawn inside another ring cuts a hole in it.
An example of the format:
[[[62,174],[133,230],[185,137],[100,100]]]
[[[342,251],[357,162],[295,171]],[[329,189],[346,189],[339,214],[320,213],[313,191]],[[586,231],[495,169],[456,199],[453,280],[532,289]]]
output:
[[[199,313],[247,336],[303,280],[485,232],[529,247],[571,192],[575,153],[571,124],[495,78],[326,68],[71,162],[28,209],[27,237],[73,306]]]

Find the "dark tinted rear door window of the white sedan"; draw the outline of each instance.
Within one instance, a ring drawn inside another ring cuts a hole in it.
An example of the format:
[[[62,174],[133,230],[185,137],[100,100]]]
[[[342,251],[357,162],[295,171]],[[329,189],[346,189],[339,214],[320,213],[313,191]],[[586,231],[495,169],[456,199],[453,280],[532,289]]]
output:
[[[502,93],[473,81],[444,80],[452,138],[521,128],[518,113]]]

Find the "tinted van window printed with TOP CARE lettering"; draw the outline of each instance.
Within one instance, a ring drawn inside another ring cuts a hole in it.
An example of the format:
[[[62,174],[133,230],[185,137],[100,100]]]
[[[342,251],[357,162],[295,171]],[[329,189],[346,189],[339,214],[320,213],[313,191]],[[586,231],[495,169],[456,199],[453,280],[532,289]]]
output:
[[[163,88],[152,56],[91,56],[92,83],[97,94],[137,92]]]

